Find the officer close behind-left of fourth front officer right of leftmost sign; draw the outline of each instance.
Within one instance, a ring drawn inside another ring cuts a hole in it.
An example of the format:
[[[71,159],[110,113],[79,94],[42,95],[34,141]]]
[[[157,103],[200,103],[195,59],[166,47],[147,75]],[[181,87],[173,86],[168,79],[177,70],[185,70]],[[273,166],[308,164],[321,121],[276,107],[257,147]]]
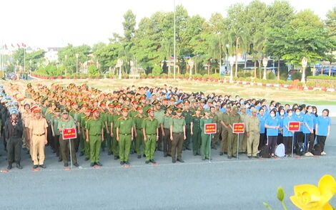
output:
[[[172,140],[170,140],[170,125],[172,120],[172,106],[167,106],[167,113],[163,116],[161,130],[163,135],[163,152],[164,157],[172,156]]]

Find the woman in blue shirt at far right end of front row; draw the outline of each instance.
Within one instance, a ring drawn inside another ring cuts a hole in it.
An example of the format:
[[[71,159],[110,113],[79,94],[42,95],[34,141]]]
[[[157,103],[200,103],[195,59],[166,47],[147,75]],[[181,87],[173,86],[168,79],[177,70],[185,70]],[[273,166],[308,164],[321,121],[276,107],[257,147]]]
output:
[[[331,118],[329,117],[329,110],[322,111],[322,116],[317,117],[316,120],[316,135],[317,143],[321,146],[321,154],[325,153],[325,140],[330,135]]]

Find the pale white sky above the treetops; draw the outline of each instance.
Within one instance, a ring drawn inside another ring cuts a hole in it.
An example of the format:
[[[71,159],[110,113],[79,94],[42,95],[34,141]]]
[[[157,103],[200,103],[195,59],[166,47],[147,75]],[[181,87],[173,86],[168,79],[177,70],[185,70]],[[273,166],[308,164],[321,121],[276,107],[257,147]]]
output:
[[[272,4],[273,0],[261,0]],[[175,0],[190,16],[209,19],[219,12],[225,16],[231,4],[250,0]],[[311,9],[322,19],[336,5],[332,0],[290,0],[295,11]],[[74,46],[104,42],[112,33],[122,33],[123,14],[132,9],[137,23],[156,11],[173,11],[174,0],[1,0],[0,47],[25,43],[33,48]]]

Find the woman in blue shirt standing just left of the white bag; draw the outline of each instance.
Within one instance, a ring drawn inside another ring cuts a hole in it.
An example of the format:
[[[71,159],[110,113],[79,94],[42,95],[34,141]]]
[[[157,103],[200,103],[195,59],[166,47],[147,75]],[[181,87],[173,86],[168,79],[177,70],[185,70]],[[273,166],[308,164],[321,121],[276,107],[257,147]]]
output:
[[[270,117],[265,120],[265,127],[267,128],[267,145],[271,157],[275,157],[275,145],[277,145],[277,136],[279,134],[280,120],[276,117],[277,111],[271,110]]]

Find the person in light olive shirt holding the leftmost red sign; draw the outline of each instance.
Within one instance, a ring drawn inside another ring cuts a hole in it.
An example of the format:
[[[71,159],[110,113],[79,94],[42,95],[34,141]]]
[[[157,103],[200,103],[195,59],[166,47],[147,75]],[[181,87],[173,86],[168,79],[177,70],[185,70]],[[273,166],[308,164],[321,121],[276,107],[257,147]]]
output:
[[[64,109],[62,111],[62,117],[61,120],[59,120],[59,124],[57,125],[57,129],[59,132],[62,132],[63,135],[59,135],[59,147],[61,150],[61,159],[63,159],[64,162],[64,167],[68,167],[69,164],[69,151],[71,147],[71,159],[72,162],[74,163],[75,167],[79,167],[79,164],[77,163],[76,159],[76,148],[75,148],[75,143],[74,141],[71,141],[69,139],[64,139],[64,131],[69,128],[74,128],[76,131],[76,123],[74,122],[74,119],[72,117],[69,117],[69,110]],[[69,145],[71,144],[71,146]]]

